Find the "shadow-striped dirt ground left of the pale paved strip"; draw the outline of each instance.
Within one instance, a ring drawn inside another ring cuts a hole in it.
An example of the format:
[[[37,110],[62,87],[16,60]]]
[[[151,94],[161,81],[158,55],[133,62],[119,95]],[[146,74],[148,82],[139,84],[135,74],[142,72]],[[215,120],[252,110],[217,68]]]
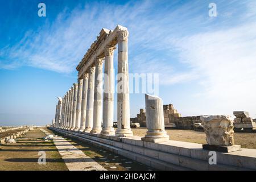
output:
[[[68,170],[53,142],[45,142],[39,129],[29,131],[17,143],[0,146],[0,171]],[[31,138],[31,139],[26,139]],[[38,152],[46,152],[46,164],[38,163]]]

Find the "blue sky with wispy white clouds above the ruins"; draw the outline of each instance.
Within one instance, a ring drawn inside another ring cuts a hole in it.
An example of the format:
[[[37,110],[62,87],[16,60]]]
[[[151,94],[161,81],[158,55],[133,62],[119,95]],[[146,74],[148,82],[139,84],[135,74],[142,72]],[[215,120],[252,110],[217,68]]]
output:
[[[208,15],[212,2],[217,17]],[[0,125],[50,123],[90,44],[117,24],[130,32],[130,73],[159,73],[164,104],[183,116],[256,118],[255,23],[255,1],[1,0]],[[131,94],[130,105],[135,117],[143,94]]]

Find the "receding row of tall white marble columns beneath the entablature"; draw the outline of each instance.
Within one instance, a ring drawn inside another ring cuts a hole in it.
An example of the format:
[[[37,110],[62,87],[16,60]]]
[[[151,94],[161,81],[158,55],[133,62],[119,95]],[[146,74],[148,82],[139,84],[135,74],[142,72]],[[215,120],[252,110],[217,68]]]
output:
[[[127,31],[118,32],[118,129],[116,131],[113,129],[115,49],[113,46],[105,47],[104,90],[102,85],[104,57],[97,57],[94,64],[68,90],[62,101],[58,102],[55,127],[117,137],[133,135],[130,128],[127,39]]]

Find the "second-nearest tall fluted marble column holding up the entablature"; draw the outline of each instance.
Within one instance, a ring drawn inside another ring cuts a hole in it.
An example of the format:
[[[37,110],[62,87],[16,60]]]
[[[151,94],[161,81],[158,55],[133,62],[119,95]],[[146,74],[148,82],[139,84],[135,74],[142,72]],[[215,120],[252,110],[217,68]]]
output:
[[[105,48],[102,135],[114,135],[114,47]]]

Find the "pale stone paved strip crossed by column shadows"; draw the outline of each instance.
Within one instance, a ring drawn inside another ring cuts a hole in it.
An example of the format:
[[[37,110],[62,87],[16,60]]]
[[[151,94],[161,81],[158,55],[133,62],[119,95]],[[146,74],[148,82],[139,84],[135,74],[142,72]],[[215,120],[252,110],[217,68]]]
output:
[[[40,130],[47,135],[51,134],[44,129]],[[53,142],[69,171],[106,171],[104,167],[95,162],[95,160],[86,156],[84,152],[73,146],[64,138],[54,137]]]

